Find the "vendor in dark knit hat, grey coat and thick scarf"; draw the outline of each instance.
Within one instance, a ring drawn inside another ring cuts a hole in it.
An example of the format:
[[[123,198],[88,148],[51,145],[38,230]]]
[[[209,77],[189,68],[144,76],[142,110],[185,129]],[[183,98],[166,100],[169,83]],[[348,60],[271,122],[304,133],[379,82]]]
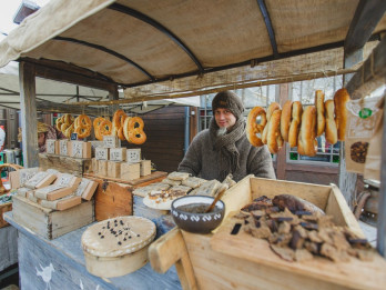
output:
[[[230,173],[235,181],[247,174],[275,179],[267,147],[253,147],[246,138],[240,98],[231,91],[219,92],[212,101],[212,110],[210,128],[193,139],[177,171],[219,181]]]

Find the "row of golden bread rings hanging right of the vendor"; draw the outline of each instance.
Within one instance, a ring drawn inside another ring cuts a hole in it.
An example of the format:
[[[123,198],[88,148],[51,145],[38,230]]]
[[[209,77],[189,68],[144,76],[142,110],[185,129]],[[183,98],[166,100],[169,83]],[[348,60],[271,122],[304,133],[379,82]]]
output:
[[[313,157],[317,152],[316,137],[324,133],[331,144],[344,141],[348,92],[339,89],[333,100],[325,101],[324,97],[324,92],[317,90],[315,104],[304,109],[299,101],[286,101],[283,109],[277,102],[271,103],[266,111],[262,107],[253,108],[246,123],[250,143],[255,147],[266,144],[275,154],[284,142],[288,142],[291,147],[297,147],[299,154]]]

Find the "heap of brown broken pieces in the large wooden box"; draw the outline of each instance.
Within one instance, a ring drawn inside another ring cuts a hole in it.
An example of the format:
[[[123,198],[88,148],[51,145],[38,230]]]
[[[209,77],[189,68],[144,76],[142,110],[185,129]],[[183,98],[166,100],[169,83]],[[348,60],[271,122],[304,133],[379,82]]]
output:
[[[332,216],[295,196],[278,194],[273,199],[262,196],[233,219],[234,231],[237,228],[267,240],[270,248],[287,261],[309,260],[314,256],[333,261],[373,258],[374,251],[366,239],[348,228],[335,226]]]

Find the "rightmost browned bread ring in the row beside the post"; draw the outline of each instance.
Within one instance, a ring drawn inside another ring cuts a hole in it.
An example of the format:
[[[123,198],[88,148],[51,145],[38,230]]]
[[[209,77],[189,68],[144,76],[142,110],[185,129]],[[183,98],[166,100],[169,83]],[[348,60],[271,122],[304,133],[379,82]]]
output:
[[[349,94],[346,89],[339,89],[334,96],[335,106],[335,123],[337,129],[337,139],[345,140],[346,123],[347,123],[347,108],[346,103],[349,100]]]

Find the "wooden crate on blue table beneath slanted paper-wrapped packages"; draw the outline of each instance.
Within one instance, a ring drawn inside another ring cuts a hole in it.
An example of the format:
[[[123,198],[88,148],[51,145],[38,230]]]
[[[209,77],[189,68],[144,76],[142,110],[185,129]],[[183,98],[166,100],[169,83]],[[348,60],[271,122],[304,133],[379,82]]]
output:
[[[63,211],[45,209],[18,196],[12,197],[12,202],[14,221],[50,240],[95,220],[93,201],[85,201]]]

